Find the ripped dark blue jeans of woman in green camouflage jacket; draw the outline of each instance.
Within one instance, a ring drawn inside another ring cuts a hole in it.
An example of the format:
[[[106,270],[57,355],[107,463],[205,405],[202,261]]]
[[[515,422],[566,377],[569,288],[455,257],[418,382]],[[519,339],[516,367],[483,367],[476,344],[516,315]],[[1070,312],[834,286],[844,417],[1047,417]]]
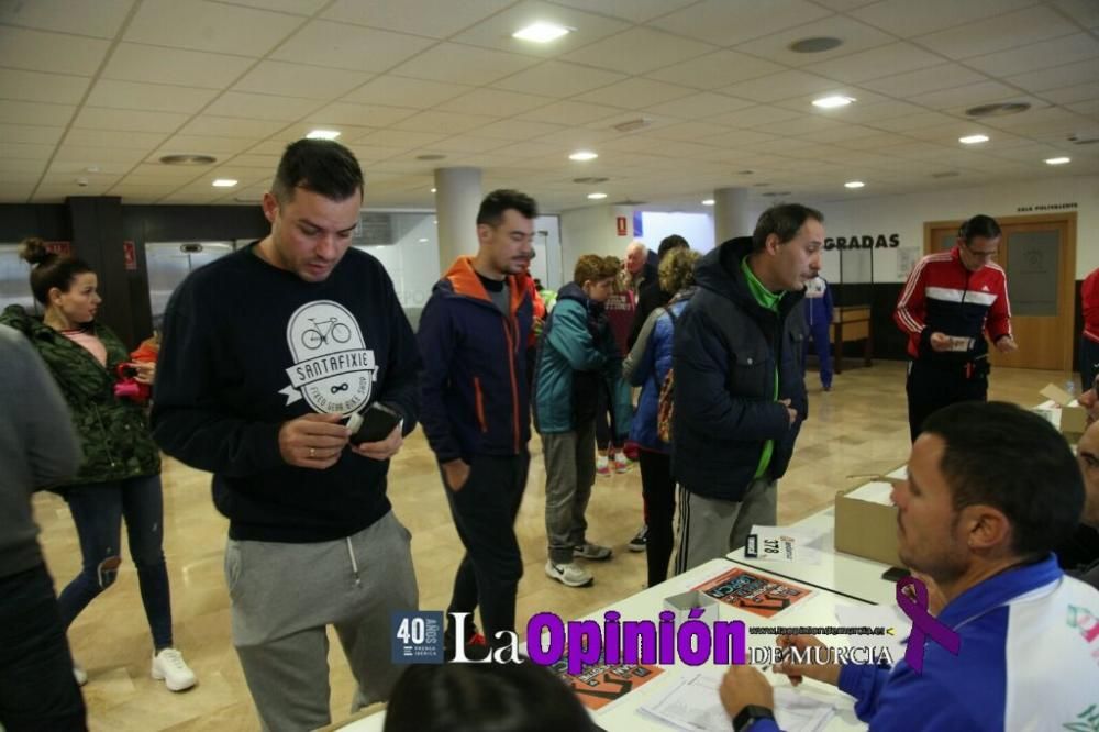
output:
[[[148,475],[110,483],[74,486],[65,493],[84,566],[62,590],[58,605],[65,628],[118,576],[122,554],[122,518],[126,520],[130,556],[156,651],[171,646],[171,600],[164,564],[164,501],[160,476]]]

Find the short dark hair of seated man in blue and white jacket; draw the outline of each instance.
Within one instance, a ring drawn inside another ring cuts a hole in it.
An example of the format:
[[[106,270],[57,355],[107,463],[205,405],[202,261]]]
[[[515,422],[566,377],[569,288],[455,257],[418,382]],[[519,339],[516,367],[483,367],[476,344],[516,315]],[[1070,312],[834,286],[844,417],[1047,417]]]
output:
[[[928,433],[946,443],[940,469],[954,510],[1000,510],[1015,555],[1044,557],[1076,529],[1084,478],[1065,437],[1042,417],[1002,401],[966,401],[932,413]]]

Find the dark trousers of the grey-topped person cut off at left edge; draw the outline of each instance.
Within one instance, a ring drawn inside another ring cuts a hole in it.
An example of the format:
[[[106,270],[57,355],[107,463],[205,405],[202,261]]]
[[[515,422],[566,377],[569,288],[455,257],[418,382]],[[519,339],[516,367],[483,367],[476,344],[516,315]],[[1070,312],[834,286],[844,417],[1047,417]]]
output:
[[[44,564],[0,578],[0,725],[7,732],[88,729]]]

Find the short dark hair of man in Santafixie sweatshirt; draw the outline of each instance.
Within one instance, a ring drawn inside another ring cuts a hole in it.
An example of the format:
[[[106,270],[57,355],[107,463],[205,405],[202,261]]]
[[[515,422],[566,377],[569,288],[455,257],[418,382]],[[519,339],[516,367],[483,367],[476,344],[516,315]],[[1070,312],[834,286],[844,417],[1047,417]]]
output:
[[[345,201],[363,193],[363,168],[355,155],[332,140],[299,140],[286,146],[275,173],[271,195],[279,203],[293,200],[296,188]]]

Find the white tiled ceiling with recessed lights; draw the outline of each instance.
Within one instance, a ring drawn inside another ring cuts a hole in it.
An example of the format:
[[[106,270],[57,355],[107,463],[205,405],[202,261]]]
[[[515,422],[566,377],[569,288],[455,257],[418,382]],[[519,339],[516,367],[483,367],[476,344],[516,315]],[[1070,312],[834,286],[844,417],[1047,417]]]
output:
[[[575,31],[511,37],[535,20]],[[844,43],[788,48],[815,35]],[[825,93],[857,101],[810,104]],[[965,117],[1001,101],[1032,109]],[[431,208],[437,166],[550,211],[597,189],[698,209],[726,186],[835,200],[1095,175],[1099,144],[1068,137],[1099,138],[1099,1],[0,0],[2,202],[254,201],[313,127],[343,132],[370,207]],[[991,141],[957,142],[975,133]],[[581,147],[599,158],[570,162]]]

